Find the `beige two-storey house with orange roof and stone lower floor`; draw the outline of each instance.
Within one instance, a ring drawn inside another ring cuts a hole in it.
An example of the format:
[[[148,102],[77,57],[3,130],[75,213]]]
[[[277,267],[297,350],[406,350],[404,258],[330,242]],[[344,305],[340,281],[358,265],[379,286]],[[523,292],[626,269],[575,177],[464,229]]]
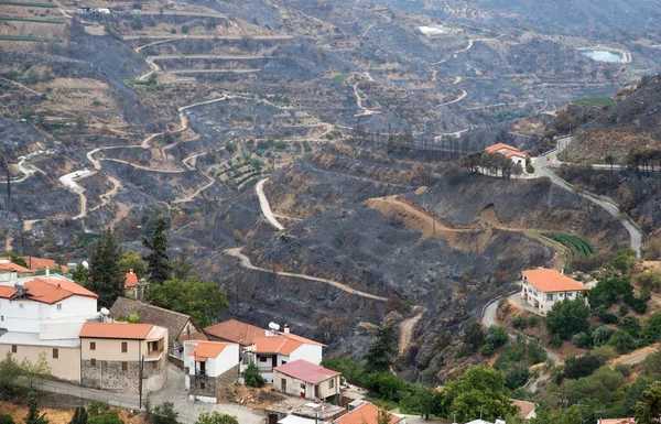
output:
[[[149,393],[167,380],[167,328],[153,324],[85,323],[80,329],[80,384]]]

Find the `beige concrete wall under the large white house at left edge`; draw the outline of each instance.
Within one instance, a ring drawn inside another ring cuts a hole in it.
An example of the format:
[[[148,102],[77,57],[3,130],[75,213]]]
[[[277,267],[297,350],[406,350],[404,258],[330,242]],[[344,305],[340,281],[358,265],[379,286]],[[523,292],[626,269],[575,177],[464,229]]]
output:
[[[80,382],[80,350],[79,348],[56,347],[58,358],[53,358],[53,347],[45,346],[17,346],[14,359],[21,362],[28,359],[32,363],[39,362],[40,354],[44,352],[46,361],[51,367],[51,374],[61,380],[67,380],[75,383]],[[7,352],[11,352],[11,345],[0,345],[0,358],[4,358]]]

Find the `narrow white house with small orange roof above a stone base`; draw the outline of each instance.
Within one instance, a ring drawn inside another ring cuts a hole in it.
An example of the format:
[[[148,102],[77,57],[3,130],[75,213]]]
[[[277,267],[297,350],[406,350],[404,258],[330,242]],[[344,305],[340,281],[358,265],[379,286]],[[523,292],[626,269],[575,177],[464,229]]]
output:
[[[218,402],[218,398],[239,379],[239,345],[185,341],[184,373],[191,400]]]

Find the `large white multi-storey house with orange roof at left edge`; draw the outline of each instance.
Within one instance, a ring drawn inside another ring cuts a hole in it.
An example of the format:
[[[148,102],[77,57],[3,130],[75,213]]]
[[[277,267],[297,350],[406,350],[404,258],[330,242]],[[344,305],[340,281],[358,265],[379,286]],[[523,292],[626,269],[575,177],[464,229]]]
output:
[[[78,334],[98,319],[98,296],[57,275],[0,285],[0,357],[37,363],[43,357],[55,378],[80,382]]]

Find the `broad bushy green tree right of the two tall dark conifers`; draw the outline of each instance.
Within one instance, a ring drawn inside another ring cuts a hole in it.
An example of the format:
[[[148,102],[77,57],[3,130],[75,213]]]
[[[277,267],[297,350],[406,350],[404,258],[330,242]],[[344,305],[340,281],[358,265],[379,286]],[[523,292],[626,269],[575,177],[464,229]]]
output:
[[[203,327],[214,324],[218,314],[229,307],[225,290],[213,281],[199,281],[196,276],[152,285],[147,297],[156,306],[191,315]]]

